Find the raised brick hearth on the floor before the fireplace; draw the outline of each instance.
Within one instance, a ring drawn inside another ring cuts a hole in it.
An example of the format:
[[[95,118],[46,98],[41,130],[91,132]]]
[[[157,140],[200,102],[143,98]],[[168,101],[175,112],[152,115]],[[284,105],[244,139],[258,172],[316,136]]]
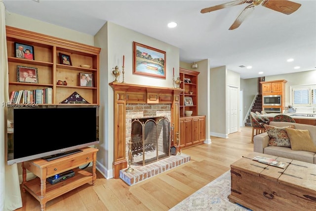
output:
[[[132,164],[131,168],[134,169],[134,172],[127,173],[125,169],[121,169],[119,171],[119,178],[128,185],[134,185],[166,170],[185,164],[190,160],[190,155],[182,153],[181,155],[170,156],[169,158],[159,160],[146,166]]]

